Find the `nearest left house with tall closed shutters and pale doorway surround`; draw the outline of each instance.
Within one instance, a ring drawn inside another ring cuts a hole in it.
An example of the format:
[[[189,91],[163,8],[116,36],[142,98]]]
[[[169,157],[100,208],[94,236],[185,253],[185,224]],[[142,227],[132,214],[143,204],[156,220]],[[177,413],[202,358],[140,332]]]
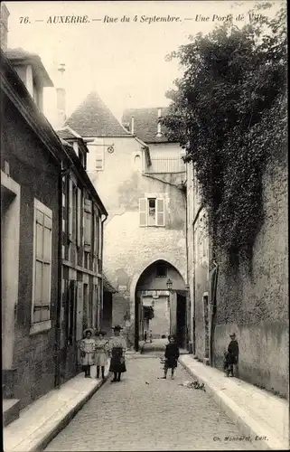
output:
[[[4,54],[1,61],[2,372],[4,398],[23,408],[55,386],[64,151]]]

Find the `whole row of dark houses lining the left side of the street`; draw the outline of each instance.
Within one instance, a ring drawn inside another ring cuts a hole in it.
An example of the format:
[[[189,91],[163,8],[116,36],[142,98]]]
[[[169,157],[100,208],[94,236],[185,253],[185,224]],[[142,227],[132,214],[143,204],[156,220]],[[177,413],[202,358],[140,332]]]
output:
[[[100,325],[102,290],[114,288],[108,281],[106,287],[102,283],[101,223],[107,211],[85,171],[85,142],[75,136],[71,144],[61,139],[44,117],[43,89],[53,84],[38,55],[10,49],[1,51],[1,62],[6,425],[20,409],[78,372],[82,329]],[[80,306],[83,294],[77,293],[86,282],[91,283],[91,309]],[[110,315],[107,309],[107,321]]]

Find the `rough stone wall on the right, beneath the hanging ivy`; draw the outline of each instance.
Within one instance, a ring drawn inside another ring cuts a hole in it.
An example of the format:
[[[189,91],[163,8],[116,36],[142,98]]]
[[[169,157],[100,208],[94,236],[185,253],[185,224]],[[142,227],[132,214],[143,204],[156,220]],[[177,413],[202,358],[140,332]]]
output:
[[[288,391],[287,165],[264,175],[265,221],[253,250],[252,272],[227,274],[220,265],[214,333],[221,368],[229,333],[238,335],[240,377],[286,395]]]

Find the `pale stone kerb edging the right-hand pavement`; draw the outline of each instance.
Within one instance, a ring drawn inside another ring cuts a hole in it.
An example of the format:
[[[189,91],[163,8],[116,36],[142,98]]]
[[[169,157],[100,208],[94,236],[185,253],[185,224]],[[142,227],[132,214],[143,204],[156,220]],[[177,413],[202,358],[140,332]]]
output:
[[[229,396],[224,392],[221,392],[220,389],[216,388],[213,384],[210,384],[206,378],[202,378],[197,372],[192,371],[188,364],[182,363],[182,357],[179,358],[179,363],[182,364],[182,367],[184,367],[192,378],[204,384],[206,392],[216,401],[220,410],[223,410],[229,416],[229,419],[235,422],[242,435],[250,438],[256,438],[257,436],[267,438],[267,441],[258,441],[259,450],[288,450],[278,438],[275,438],[273,435],[270,436],[266,428],[261,427],[245,410],[239,408],[237,403],[231,400]]]

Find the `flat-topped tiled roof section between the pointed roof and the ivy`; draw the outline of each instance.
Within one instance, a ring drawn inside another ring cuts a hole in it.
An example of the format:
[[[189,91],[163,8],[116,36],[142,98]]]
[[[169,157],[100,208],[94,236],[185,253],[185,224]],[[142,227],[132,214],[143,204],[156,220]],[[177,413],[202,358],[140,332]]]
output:
[[[134,117],[134,135],[139,137],[146,144],[166,143],[166,127],[161,126],[161,137],[156,137],[158,126],[158,109],[161,109],[161,116],[167,114],[168,108],[129,108],[123,113],[122,124],[129,125],[131,131],[131,118]]]

